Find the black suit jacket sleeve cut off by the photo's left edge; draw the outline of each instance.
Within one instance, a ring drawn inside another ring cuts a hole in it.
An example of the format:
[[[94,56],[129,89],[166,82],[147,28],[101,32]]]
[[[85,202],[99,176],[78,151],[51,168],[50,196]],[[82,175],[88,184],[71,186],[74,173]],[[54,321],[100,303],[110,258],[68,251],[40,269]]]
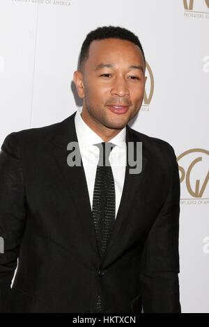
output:
[[[24,179],[15,132],[6,136],[0,151],[0,312],[6,312],[10,284],[17,267],[26,218]],[[3,253],[2,253],[3,252]]]

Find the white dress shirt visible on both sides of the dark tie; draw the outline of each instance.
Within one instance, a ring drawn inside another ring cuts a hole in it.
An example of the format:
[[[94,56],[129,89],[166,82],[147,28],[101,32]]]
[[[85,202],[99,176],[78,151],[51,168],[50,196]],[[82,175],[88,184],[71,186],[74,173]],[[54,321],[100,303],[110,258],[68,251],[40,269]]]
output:
[[[88,186],[88,195],[91,203],[91,210],[93,204],[93,189],[95,184],[95,174],[99,161],[100,149],[95,146],[96,143],[102,143],[104,140],[95,133],[81,116],[82,108],[78,107],[75,114],[75,129],[79,143],[79,150],[82,155],[82,162],[86,175],[86,183]],[[126,127],[124,127],[114,138],[109,142],[116,146],[109,154],[109,162],[114,175],[115,191],[116,191],[116,216],[118,207],[121,202],[121,195],[123,191],[123,184],[125,179],[126,166],[126,143],[125,143]],[[115,217],[116,218],[116,217]]]

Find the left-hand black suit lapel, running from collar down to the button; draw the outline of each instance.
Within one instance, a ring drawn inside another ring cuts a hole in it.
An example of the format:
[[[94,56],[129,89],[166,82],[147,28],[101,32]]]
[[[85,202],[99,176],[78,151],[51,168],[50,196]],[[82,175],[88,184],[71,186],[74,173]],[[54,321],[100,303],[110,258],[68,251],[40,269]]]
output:
[[[75,112],[76,113],[76,112]],[[75,113],[61,122],[62,128],[59,134],[55,134],[52,139],[52,152],[54,159],[70,193],[71,199],[75,204],[80,220],[81,230],[87,242],[91,242],[95,255],[99,255],[98,245],[95,236],[93,218],[91,213],[91,203],[88,196],[88,187],[84,166],[68,166],[67,157],[70,153],[67,150],[68,143],[78,142],[75,130]],[[69,213],[70,216],[70,213]]]

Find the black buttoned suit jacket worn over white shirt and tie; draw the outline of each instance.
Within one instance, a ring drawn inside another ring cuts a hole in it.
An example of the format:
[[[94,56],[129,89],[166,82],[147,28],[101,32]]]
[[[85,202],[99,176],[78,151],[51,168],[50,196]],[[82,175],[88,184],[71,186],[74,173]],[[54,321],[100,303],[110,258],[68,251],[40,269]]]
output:
[[[143,144],[142,171],[130,174],[127,163],[100,257],[84,167],[67,164],[74,118],[13,132],[1,146],[0,312],[93,312],[98,292],[105,312],[180,312],[173,147],[127,125],[126,142]]]

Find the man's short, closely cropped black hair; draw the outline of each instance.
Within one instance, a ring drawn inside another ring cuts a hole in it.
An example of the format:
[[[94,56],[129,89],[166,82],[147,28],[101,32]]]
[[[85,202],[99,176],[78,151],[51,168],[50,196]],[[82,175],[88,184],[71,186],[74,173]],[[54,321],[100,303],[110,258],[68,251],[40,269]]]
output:
[[[84,67],[85,61],[88,59],[88,51],[89,47],[91,45],[91,42],[93,40],[104,40],[106,38],[116,38],[121,40],[128,40],[130,42],[133,42],[135,45],[138,45],[139,49],[141,50],[143,57],[144,57],[144,63],[146,64],[146,59],[144,56],[144,50],[141,46],[141,42],[139,41],[139,38],[137,35],[132,33],[131,31],[124,29],[120,26],[102,26],[98,27],[97,29],[89,32],[86,35],[86,39],[84,40],[82,44],[82,49],[79,54],[79,61],[78,61],[78,70],[82,71]]]

